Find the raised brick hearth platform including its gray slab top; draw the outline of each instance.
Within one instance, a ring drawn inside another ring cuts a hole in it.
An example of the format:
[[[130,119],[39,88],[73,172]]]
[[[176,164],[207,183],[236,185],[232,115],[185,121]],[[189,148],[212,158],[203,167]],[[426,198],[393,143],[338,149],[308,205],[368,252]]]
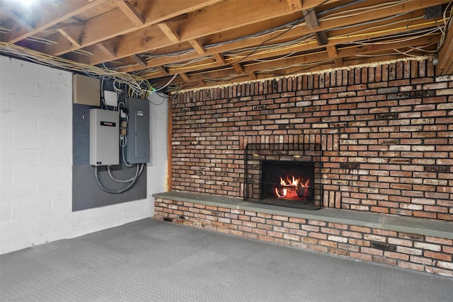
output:
[[[156,219],[453,277],[449,221],[329,208],[288,209],[186,192],[153,197]]]

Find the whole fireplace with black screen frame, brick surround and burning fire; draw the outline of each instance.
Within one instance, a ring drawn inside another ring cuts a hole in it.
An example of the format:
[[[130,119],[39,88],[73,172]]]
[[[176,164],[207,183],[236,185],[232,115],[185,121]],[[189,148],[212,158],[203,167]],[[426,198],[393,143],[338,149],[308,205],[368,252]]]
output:
[[[316,136],[313,137],[316,141]],[[243,200],[296,209],[321,209],[321,144],[247,144]]]

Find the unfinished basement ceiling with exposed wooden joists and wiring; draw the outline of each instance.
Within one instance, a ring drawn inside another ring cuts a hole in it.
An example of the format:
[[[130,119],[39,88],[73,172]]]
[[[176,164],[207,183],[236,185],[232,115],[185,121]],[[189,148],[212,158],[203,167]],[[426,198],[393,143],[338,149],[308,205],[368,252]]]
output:
[[[453,73],[445,0],[0,0],[0,8],[0,51],[20,45],[173,91],[419,56],[438,61],[437,75]]]

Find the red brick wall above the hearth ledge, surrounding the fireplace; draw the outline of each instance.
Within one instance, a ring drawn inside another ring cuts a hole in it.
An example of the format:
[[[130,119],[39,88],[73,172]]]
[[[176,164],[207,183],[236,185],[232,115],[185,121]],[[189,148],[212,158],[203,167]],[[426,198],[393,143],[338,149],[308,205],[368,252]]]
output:
[[[453,76],[430,61],[179,93],[171,190],[241,198],[243,149],[322,146],[323,207],[453,221]]]

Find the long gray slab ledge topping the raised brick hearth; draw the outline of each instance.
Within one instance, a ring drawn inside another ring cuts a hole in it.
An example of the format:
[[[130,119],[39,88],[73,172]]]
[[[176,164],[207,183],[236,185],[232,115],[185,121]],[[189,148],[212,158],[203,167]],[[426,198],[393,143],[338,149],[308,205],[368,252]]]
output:
[[[163,192],[153,194],[152,196],[154,198],[169,199],[176,202],[205,204],[213,207],[256,211],[264,214],[290,216],[331,223],[345,223],[354,226],[382,228],[388,231],[453,239],[453,222],[449,221],[434,221],[430,219],[331,208],[323,208],[319,210],[290,209],[287,207],[277,207],[268,204],[244,202],[242,199],[232,197],[219,197],[188,192]]]

